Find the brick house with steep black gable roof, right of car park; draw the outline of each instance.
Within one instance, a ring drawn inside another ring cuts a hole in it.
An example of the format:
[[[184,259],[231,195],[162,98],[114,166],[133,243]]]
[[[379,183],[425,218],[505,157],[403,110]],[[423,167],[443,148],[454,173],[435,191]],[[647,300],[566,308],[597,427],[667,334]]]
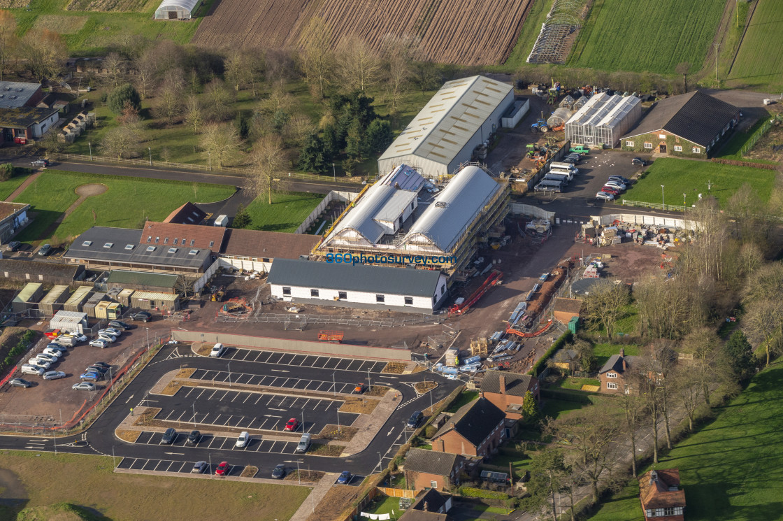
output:
[[[460,407],[432,438],[432,450],[486,458],[505,437],[506,415],[486,398]]]

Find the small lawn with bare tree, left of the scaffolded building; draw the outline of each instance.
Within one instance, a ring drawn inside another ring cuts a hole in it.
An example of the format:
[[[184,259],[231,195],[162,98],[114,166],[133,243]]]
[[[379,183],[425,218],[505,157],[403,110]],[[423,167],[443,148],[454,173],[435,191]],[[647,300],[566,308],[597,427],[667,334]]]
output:
[[[247,213],[252,219],[249,228],[269,232],[294,232],[323,201],[323,194],[273,193],[272,204],[268,201],[267,195],[262,194],[247,205]]]

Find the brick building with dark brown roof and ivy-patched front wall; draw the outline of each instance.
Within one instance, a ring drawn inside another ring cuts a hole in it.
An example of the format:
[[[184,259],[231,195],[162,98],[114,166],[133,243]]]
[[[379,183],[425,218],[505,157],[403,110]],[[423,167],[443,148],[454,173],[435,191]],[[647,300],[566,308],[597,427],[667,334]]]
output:
[[[662,99],[620,143],[622,150],[705,159],[739,121],[739,108],[699,91]]]

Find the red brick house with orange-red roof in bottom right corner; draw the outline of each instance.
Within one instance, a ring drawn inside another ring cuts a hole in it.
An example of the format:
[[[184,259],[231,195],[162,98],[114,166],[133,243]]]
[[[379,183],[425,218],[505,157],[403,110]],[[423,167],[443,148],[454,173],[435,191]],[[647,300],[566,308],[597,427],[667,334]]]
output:
[[[644,519],[684,521],[685,491],[678,469],[651,470],[639,476],[639,500]]]

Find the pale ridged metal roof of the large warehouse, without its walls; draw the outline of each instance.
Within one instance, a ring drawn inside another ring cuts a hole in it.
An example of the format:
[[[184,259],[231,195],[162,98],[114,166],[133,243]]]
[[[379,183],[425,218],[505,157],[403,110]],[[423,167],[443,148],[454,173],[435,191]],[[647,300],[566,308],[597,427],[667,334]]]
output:
[[[415,154],[449,165],[511,90],[484,76],[447,81],[379,161]]]

